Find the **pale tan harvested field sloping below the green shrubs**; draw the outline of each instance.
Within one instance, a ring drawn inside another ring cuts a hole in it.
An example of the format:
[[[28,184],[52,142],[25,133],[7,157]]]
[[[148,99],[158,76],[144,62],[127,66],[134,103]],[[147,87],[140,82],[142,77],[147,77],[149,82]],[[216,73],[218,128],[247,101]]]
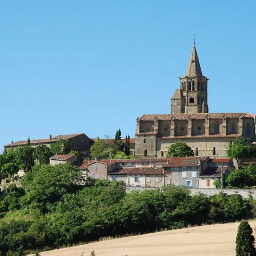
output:
[[[230,255],[234,256],[239,222],[117,238],[87,245],[40,253],[42,256],[144,256],[144,255]],[[250,221],[254,230],[256,220]]]

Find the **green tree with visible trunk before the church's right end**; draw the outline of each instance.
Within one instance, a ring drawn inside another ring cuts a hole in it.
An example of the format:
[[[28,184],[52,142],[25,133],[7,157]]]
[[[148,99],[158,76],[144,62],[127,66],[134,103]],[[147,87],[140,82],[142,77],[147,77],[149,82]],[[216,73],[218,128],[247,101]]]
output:
[[[237,160],[238,169],[241,168],[245,159],[250,158],[249,147],[243,137],[238,137],[229,144],[227,154],[230,158]]]

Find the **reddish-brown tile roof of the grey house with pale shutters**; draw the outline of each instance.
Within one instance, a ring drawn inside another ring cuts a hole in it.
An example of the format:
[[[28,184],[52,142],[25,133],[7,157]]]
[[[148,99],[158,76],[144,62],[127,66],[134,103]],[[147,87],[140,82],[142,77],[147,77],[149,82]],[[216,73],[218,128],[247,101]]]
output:
[[[164,168],[167,167],[192,167],[198,166],[199,161],[208,159],[208,156],[191,156],[186,158],[169,158],[168,163],[164,164]]]

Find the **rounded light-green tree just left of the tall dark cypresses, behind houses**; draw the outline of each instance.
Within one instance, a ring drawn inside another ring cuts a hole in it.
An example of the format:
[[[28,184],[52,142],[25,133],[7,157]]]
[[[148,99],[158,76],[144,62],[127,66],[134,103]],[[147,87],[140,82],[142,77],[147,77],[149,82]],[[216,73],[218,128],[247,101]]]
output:
[[[94,144],[90,147],[90,158],[93,159],[103,159],[108,158],[112,149],[109,144],[106,143],[105,139],[99,139],[95,141]]]

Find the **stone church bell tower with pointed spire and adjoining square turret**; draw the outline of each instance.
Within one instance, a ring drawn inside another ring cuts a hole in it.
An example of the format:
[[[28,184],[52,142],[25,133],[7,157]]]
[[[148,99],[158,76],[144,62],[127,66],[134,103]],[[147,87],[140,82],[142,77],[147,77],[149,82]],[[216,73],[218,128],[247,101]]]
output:
[[[171,98],[171,113],[208,113],[207,88],[208,78],[201,71],[194,42],[187,72]]]

